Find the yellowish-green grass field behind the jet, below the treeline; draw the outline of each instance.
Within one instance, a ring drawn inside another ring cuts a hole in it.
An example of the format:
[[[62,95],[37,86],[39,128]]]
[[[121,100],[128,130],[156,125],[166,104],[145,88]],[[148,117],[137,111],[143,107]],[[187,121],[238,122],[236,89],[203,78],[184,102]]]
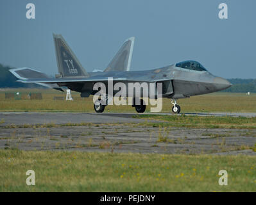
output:
[[[6,92],[20,92],[21,100],[4,99]],[[30,92],[41,92],[42,100],[30,100]],[[53,97],[65,97],[64,92],[53,89],[1,89],[0,111],[73,111],[94,112],[92,97],[81,98],[76,92],[71,92],[74,101],[53,100]],[[182,112],[255,112],[256,94],[214,93],[194,96],[189,99],[179,99]],[[170,99],[163,99],[162,112],[171,113]],[[149,106],[146,109],[149,112]],[[132,106],[107,106],[105,112],[135,112]]]

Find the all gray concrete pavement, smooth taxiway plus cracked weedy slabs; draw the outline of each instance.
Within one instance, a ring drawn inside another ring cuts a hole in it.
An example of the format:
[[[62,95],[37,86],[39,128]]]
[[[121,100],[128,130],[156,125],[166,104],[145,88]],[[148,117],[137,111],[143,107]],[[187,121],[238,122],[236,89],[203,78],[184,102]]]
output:
[[[0,120],[3,119],[0,124],[0,149],[256,155],[251,149],[256,143],[255,129],[170,127],[164,130],[159,127],[134,125],[144,122],[144,119],[134,119],[133,115],[137,113],[0,113]],[[256,113],[186,115],[256,117]],[[85,124],[51,126],[69,122]],[[92,124],[86,124],[89,122]],[[47,123],[50,126],[44,125]],[[12,124],[16,127],[10,127]],[[42,126],[22,127],[24,124]]]

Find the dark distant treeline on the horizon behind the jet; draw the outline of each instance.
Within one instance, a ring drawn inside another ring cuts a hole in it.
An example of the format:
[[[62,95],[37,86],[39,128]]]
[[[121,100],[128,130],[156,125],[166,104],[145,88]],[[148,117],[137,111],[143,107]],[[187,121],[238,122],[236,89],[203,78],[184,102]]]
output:
[[[38,88],[42,87],[35,83],[19,83],[17,78],[9,71],[12,69],[0,64],[0,88]],[[255,92],[256,93],[256,79],[228,79],[233,85],[223,90],[222,92]]]

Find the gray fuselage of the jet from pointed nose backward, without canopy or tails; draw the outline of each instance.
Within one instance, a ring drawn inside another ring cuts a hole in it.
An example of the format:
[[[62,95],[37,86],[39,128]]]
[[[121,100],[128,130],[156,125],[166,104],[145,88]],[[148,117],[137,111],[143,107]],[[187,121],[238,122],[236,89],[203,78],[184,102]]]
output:
[[[175,65],[143,71],[89,72],[89,75],[89,78],[93,79],[113,78],[114,84],[118,82],[122,82],[125,85],[129,82],[163,83],[163,97],[173,99],[218,92],[219,90],[224,90],[232,85],[226,79],[216,77],[206,70],[198,71],[182,69]],[[106,82],[104,83],[106,84]],[[93,84],[94,83],[87,82],[79,90],[76,90],[76,88],[73,88],[73,90],[81,93],[88,92],[90,94],[95,94],[97,91],[92,91]],[[132,97],[128,95],[128,92],[126,93],[127,97]]]

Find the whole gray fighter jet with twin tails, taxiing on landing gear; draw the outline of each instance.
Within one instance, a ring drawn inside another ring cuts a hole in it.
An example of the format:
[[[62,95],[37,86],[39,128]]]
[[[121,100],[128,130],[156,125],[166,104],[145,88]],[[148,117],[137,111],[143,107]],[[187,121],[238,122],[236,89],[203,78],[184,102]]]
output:
[[[35,69],[10,69],[10,72],[19,78],[19,82],[37,83],[56,90],[67,87],[80,92],[81,97],[96,95],[98,91],[93,89],[94,84],[101,82],[108,86],[107,82],[110,78],[114,83],[124,83],[124,85],[138,82],[155,83],[157,86],[158,83],[162,83],[162,97],[171,99],[173,113],[180,113],[177,99],[218,92],[232,85],[226,79],[214,76],[201,63],[194,60],[182,61],[158,69],[130,71],[134,37],[128,38],[124,42],[104,71],[87,72],[62,35],[53,34],[53,40],[58,65],[58,74],[55,75],[55,78]],[[116,90],[113,91],[114,94],[116,92]],[[155,97],[157,96],[156,94]],[[126,92],[126,97],[133,97],[132,106],[138,113],[143,113],[146,110],[143,99],[139,99],[139,104],[137,104],[135,103],[137,96],[134,94],[129,95]],[[101,113],[105,110],[105,106],[107,104],[95,103],[94,110]]]

